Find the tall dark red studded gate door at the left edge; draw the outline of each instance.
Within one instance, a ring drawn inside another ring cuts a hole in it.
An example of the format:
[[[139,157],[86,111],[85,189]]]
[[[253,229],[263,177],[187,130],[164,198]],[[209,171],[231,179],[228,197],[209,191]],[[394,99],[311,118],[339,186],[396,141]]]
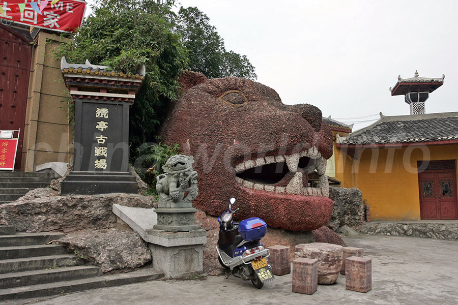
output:
[[[32,45],[0,24],[0,130],[20,129],[14,169],[20,170]]]

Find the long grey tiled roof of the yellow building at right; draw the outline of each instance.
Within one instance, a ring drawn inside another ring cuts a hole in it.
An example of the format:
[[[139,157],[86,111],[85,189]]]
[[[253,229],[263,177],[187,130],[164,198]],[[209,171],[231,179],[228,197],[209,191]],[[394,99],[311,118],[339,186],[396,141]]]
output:
[[[458,112],[383,116],[341,144],[387,144],[458,139]]]

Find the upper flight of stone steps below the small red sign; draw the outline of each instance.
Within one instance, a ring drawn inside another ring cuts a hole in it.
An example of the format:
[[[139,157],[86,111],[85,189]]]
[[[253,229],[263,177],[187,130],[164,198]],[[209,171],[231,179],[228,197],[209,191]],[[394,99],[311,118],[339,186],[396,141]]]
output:
[[[0,204],[13,202],[30,190],[45,188],[52,179],[51,173],[0,171]]]

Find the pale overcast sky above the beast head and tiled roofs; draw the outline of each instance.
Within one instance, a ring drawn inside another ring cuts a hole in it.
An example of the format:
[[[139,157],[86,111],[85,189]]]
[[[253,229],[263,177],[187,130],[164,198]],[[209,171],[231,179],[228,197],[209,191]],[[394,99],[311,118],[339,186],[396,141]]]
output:
[[[226,49],[247,55],[284,104],[312,104],[344,123],[409,114],[388,88],[418,70],[445,74],[426,113],[458,111],[458,1],[179,2],[207,14]]]

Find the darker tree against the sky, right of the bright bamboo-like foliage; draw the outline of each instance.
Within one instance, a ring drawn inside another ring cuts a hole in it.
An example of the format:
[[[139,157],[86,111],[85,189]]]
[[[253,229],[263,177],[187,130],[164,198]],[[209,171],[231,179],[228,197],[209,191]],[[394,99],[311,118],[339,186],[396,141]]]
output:
[[[178,12],[176,31],[189,51],[189,69],[208,78],[234,76],[255,80],[256,73],[248,58],[226,51],[224,40],[209,21],[196,7],[182,7]]]

